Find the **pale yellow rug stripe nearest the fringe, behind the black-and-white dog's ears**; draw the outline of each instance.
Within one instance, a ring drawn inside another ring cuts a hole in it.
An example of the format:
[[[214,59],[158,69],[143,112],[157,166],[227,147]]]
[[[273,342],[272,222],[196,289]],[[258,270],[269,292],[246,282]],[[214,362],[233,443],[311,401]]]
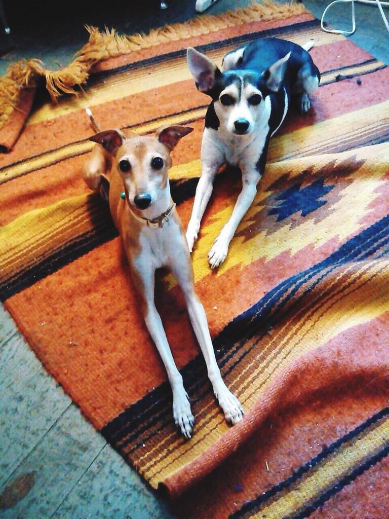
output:
[[[315,45],[325,45],[337,40],[341,40],[342,36],[327,34],[320,31],[319,28],[288,34],[288,39],[295,43],[304,44],[309,39],[315,39]],[[212,60],[221,65],[224,55],[237,45],[226,45],[222,48],[207,52]],[[160,88],[178,81],[190,79],[188,65],[184,56],[162,61],[157,64],[142,67],[141,69],[131,70],[121,74],[113,74],[107,76],[103,81],[99,81],[95,85],[86,88],[85,92],[78,97],[72,97],[60,102],[57,105],[46,103],[33,113],[27,125],[37,124],[38,122],[47,121],[70,114],[77,110],[82,110],[87,106],[93,107],[98,104],[122,99],[129,95],[145,92],[150,89]],[[193,83],[193,89],[196,88]]]

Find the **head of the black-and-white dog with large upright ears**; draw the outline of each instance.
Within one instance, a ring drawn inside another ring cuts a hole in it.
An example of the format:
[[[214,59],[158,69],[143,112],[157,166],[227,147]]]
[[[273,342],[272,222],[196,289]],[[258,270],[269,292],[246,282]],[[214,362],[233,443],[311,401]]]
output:
[[[239,56],[227,55],[224,69],[219,68],[201,52],[190,47],[187,50],[189,70],[200,92],[213,100],[220,126],[229,133],[246,135],[254,131],[266,106],[266,98],[280,89],[290,52],[262,73],[239,70]],[[238,66],[238,68],[237,68]]]

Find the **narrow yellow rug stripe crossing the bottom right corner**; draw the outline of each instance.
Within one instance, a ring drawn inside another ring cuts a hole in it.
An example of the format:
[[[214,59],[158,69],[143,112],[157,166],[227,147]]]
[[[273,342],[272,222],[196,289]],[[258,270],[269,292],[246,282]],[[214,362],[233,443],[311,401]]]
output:
[[[261,508],[250,519],[292,517],[388,444],[389,419],[386,419],[366,435],[357,437],[355,442],[342,446],[335,455],[311,469],[308,476],[293,489],[269,506]]]

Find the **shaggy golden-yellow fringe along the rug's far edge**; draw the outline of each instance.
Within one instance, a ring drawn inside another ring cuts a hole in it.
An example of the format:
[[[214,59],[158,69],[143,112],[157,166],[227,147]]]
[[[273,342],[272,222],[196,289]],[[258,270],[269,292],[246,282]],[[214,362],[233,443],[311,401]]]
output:
[[[95,27],[86,26],[88,43],[77,52],[75,60],[62,69],[45,69],[44,64],[36,59],[21,60],[9,66],[6,74],[0,78],[0,128],[13,110],[17,109],[22,89],[35,86],[39,80],[43,79],[52,101],[57,102],[63,94],[77,95],[87,82],[92,66],[99,61],[233,25],[268,21],[305,12],[302,4],[280,5],[273,0],[262,0],[262,4],[254,3],[220,15],[202,15],[185,23],[151,29],[148,34],[119,35],[114,29],[100,32]]]

